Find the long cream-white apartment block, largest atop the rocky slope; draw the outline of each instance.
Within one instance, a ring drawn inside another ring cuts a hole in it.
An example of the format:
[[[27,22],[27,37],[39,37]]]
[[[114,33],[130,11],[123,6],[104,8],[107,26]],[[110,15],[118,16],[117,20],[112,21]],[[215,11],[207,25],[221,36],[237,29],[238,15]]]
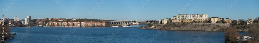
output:
[[[186,14],[178,14],[176,16],[177,20],[209,20],[209,14],[192,14],[192,15],[186,15]]]

